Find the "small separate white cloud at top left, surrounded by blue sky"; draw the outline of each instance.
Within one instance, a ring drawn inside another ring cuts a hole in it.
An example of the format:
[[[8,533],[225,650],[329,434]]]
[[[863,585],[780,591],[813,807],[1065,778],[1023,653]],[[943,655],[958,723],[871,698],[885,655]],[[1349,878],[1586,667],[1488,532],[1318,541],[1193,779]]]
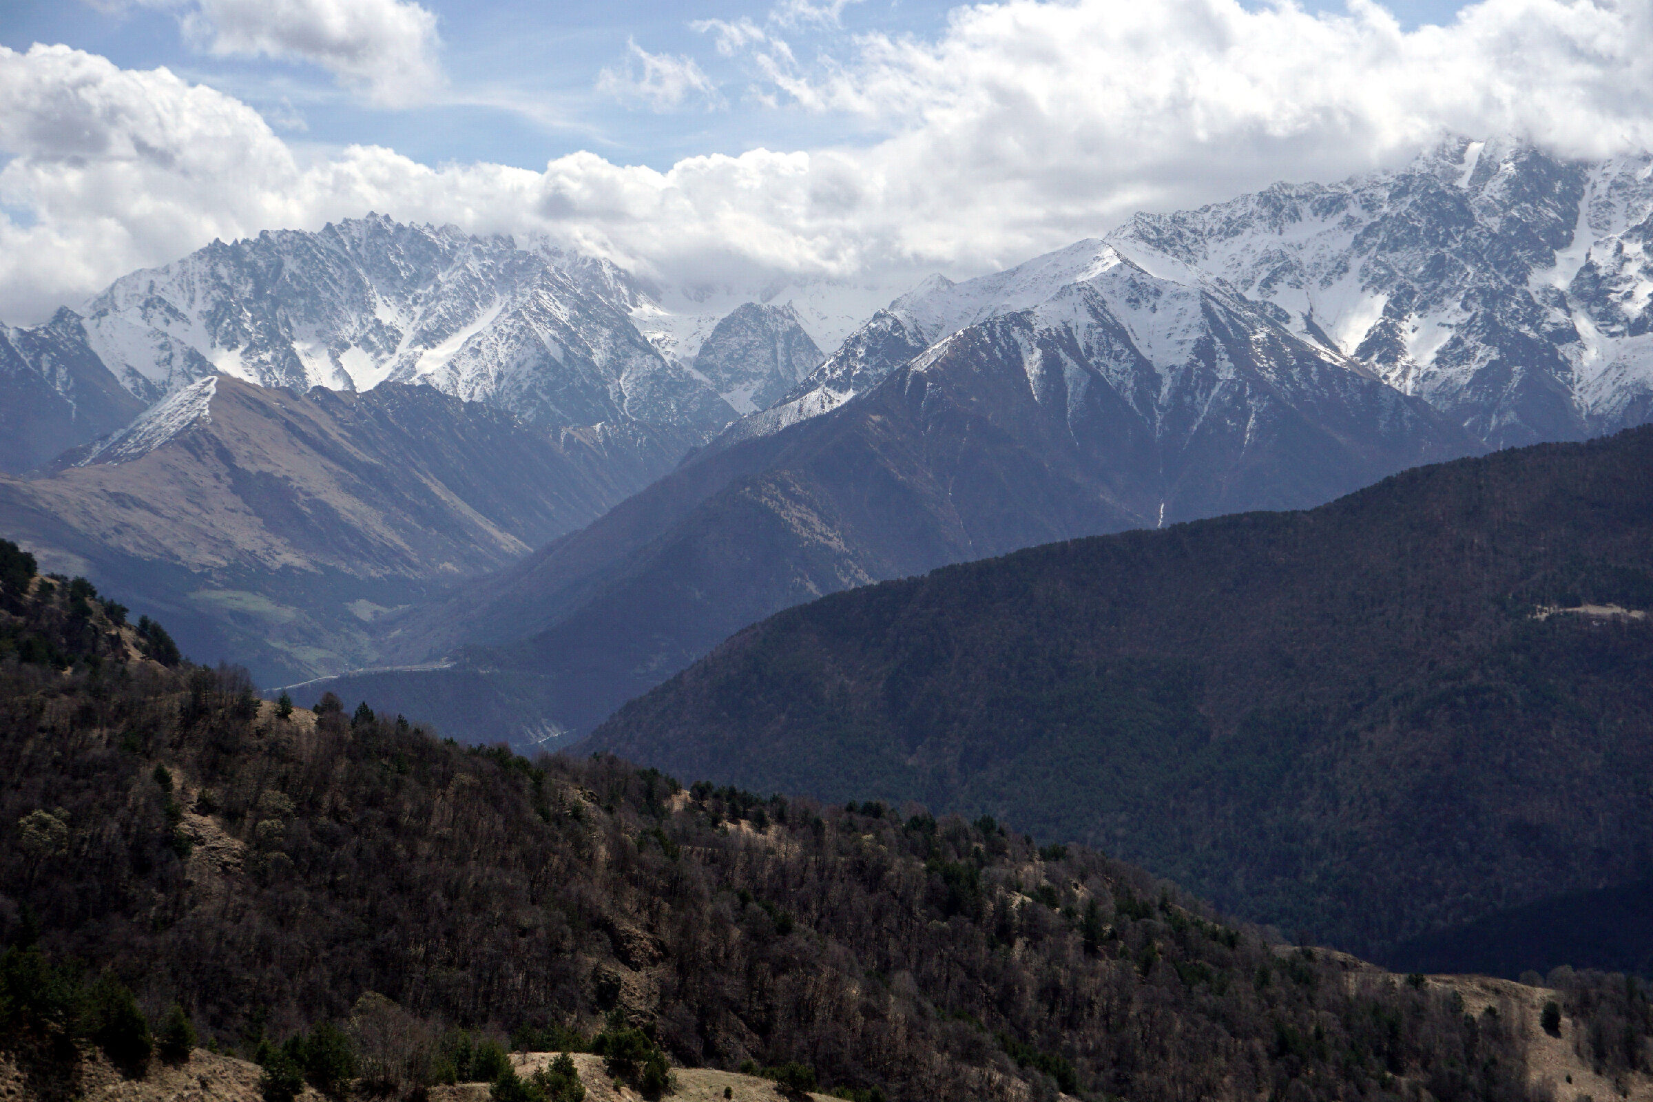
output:
[[[410,0],[197,0],[182,18],[185,35],[215,55],[311,61],[380,106],[418,102],[441,86],[436,17]]]

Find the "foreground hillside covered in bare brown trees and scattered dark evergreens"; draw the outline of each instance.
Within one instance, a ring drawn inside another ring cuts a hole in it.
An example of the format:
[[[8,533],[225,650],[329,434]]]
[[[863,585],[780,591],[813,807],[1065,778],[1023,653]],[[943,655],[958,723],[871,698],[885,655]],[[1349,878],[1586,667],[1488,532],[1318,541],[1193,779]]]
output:
[[[98,976],[93,1006],[177,1005],[241,1051],[309,1031],[281,1051],[312,1064],[327,1021],[369,1014],[412,1056],[450,1028],[531,1047],[602,1029],[858,1099],[1541,1094],[1514,1014],[1270,945],[1096,851],[289,712],[235,669],[141,658],[159,644],[89,587],[5,563],[7,638],[40,639],[0,659],[12,1051],[89,1029],[64,991]],[[1610,1041],[1597,1066],[1638,1064],[1640,988],[1570,991]],[[412,1056],[359,1085],[456,1074]]]

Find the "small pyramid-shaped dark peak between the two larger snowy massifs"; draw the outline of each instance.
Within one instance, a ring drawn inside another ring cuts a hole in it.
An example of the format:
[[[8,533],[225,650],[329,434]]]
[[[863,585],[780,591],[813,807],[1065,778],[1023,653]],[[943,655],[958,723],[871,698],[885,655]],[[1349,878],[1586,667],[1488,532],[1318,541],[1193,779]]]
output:
[[[739,413],[767,410],[825,357],[787,306],[747,302],[724,316],[694,355],[694,370]]]

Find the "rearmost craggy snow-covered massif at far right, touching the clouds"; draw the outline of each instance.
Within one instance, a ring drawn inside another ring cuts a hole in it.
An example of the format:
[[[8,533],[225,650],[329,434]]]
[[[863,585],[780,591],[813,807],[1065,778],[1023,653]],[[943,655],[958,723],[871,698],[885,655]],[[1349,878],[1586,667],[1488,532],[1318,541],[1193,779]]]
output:
[[[1450,142],[1398,172],[1137,215],[1175,258],[1494,446],[1640,423],[1653,395],[1653,157]]]

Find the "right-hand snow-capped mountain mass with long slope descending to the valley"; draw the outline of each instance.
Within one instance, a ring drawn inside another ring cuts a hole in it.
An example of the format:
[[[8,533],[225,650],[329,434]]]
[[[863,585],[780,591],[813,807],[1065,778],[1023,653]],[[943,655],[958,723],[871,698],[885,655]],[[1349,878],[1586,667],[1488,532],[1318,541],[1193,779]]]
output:
[[[577,734],[820,593],[1636,425],[1650,165],[1455,140],[932,278],[633,507],[390,625],[453,669],[339,691],[473,734],[464,677]]]

